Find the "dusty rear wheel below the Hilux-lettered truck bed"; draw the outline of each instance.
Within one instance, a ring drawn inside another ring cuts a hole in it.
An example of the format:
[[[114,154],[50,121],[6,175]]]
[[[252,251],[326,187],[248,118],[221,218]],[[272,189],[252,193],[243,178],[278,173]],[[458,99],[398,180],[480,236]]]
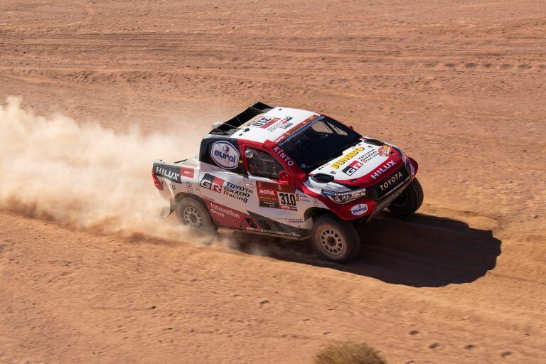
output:
[[[191,197],[181,198],[176,204],[176,215],[183,225],[192,230],[213,234],[218,226],[210,217],[205,204]]]

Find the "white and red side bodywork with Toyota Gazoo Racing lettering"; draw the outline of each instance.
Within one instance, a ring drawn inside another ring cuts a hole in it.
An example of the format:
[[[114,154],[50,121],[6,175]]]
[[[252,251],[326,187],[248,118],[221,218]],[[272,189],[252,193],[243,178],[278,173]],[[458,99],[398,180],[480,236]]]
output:
[[[184,164],[166,164],[161,166],[168,168],[183,168]],[[210,164],[200,163],[200,167],[191,167],[193,175],[187,173],[184,176],[176,176],[173,173],[165,173],[161,168],[155,168],[157,178],[164,189],[161,196],[174,201],[178,193],[189,193],[203,198],[208,205],[213,220],[220,227],[239,228],[240,230],[262,231],[259,228],[250,228],[245,223],[245,217],[256,216],[274,220],[282,225],[292,228],[311,230],[313,222],[311,218],[305,218],[309,208],[327,208],[321,200],[307,196],[293,186],[282,185],[269,178],[242,176],[226,171]],[[200,169],[203,169],[201,171]],[[178,181],[174,181],[178,179]],[[228,223],[223,220],[228,211],[231,217],[237,215],[240,226],[233,226],[233,219]],[[259,218],[258,218],[259,219]],[[279,233],[279,235],[295,235],[276,230],[263,230],[263,232]]]

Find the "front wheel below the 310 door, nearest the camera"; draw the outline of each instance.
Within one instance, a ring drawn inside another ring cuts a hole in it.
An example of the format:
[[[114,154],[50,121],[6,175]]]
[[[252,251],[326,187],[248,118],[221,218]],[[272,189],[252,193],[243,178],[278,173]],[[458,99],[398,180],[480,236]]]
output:
[[[355,226],[330,214],[316,219],[311,241],[324,258],[336,263],[350,262],[360,250],[360,237]]]

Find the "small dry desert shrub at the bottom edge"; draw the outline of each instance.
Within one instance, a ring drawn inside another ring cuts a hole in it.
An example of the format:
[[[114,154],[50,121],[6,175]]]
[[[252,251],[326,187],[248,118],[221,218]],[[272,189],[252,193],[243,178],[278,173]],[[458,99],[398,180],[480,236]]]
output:
[[[386,364],[378,352],[365,343],[333,343],[314,357],[315,364]]]

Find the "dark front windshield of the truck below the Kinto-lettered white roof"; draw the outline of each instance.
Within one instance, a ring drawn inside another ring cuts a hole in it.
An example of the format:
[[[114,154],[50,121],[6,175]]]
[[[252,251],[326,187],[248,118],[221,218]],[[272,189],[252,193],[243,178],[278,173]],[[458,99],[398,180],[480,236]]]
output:
[[[360,134],[322,115],[279,143],[306,173],[358,143]]]

